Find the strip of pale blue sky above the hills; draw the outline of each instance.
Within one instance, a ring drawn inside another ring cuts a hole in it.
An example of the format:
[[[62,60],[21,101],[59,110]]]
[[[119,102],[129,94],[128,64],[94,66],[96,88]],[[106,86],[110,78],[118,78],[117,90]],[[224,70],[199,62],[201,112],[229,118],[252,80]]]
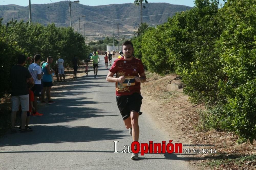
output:
[[[47,4],[52,2],[59,2],[61,0],[31,0],[31,4]],[[194,0],[147,0],[149,3],[153,2],[165,2],[169,4],[194,6]],[[109,4],[124,4],[133,3],[134,0],[80,0],[80,4],[97,6],[97,5],[109,5]],[[0,0],[0,5],[16,4],[20,6],[28,6],[28,0]]]

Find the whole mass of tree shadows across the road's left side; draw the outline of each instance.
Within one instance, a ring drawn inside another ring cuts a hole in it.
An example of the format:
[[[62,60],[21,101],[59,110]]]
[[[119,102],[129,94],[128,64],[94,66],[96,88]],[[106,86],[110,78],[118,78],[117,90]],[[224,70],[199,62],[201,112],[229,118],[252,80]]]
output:
[[[118,116],[94,105],[110,102],[97,102],[87,97],[87,93],[96,93],[90,87],[106,87],[103,82],[81,78],[79,81],[67,82],[66,86],[53,89],[55,104],[40,104],[40,117],[31,117],[32,132],[7,135],[0,141],[1,146],[35,145],[40,143],[90,142],[100,140],[118,140],[127,136],[127,130],[97,128],[86,125],[88,118]],[[94,89],[95,90],[95,89]],[[89,95],[88,95],[89,96]],[[72,121],[76,123],[67,124]],[[2,153],[2,152],[0,152]]]

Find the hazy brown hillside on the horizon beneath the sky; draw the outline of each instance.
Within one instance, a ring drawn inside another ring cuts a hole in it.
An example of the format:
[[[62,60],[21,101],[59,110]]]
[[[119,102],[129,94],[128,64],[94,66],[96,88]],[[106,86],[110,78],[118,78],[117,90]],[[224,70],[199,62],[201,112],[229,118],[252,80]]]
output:
[[[148,3],[145,4],[145,6],[146,8],[143,9],[143,16],[156,15],[143,17],[143,22],[147,22],[150,24],[150,26],[162,24],[167,21],[168,17],[172,17],[175,12],[184,11],[191,8],[188,6],[172,5],[168,3]],[[61,1],[54,4],[32,4],[31,11],[32,22],[45,24],[54,22],[58,27],[70,26],[69,1]],[[141,22],[140,6],[135,6],[133,3],[101,6],[88,6],[79,3],[72,3],[71,11],[72,27],[74,30],[78,30],[78,16],[86,16],[80,17],[80,31],[83,34],[83,23],[85,23],[85,34],[87,36],[93,34],[112,35],[112,23],[115,35],[118,33],[118,24],[120,36],[124,34],[133,34],[133,30],[136,29],[135,27],[137,24]],[[12,19],[18,21],[23,19],[24,21],[27,21],[28,6],[23,7],[18,5],[2,5],[0,6],[0,18],[3,18],[2,23],[6,23]]]

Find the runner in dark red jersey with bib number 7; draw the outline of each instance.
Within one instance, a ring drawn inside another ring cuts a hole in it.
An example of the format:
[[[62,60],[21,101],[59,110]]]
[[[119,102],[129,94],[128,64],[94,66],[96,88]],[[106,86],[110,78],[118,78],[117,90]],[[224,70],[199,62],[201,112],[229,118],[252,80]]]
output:
[[[138,118],[142,104],[141,83],[146,81],[146,75],[141,60],[133,57],[133,44],[125,41],[123,44],[124,56],[116,59],[106,78],[109,82],[115,82],[116,102],[123,117],[125,127],[133,138],[139,140]],[[116,77],[114,78],[114,74]],[[133,153],[131,159],[137,160],[138,154]]]

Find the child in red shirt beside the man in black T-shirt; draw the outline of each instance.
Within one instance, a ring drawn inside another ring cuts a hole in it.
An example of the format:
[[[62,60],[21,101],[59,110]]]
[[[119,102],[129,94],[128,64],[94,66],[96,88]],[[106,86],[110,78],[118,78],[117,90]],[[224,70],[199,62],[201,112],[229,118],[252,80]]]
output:
[[[27,118],[26,118],[25,129],[21,129],[21,124],[20,124],[20,126],[19,126],[20,133],[33,131],[33,129],[28,126],[28,123],[29,123],[29,119],[30,119],[32,110],[33,110],[33,111],[36,110],[35,107],[33,106],[33,102],[34,102],[34,93],[33,93],[32,90],[30,90],[33,86],[34,86],[34,84],[28,84],[29,110],[28,110],[28,112],[27,112]]]

